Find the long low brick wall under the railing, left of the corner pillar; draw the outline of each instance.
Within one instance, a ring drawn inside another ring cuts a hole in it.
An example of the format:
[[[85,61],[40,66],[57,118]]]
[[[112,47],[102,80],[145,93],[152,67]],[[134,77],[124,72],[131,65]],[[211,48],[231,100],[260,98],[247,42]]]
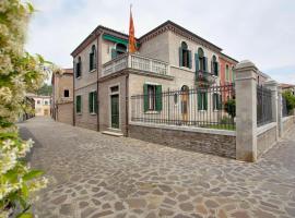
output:
[[[198,133],[130,124],[129,136],[180,149],[229,158],[235,158],[236,156],[236,137],[234,135]]]

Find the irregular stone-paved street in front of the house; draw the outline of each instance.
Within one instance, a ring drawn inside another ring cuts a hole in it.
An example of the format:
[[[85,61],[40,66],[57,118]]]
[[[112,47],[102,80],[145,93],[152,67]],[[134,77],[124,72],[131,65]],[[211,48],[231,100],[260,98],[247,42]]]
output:
[[[257,164],[111,137],[50,119],[20,124],[49,186],[39,218],[295,217],[295,130]]]

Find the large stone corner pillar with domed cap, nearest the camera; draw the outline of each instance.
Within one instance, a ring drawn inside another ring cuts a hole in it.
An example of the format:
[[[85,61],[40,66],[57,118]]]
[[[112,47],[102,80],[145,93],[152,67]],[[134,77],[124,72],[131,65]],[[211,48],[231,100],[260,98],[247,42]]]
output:
[[[250,61],[237,64],[236,159],[257,160],[257,68]]]

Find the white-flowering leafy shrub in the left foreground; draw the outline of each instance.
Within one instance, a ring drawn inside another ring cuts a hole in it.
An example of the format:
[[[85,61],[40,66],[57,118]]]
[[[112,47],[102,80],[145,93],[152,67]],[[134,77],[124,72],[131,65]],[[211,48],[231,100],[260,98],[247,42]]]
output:
[[[30,218],[32,193],[46,186],[43,172],[24,161],[33,141],[19,136],[14,122],[28,110],[24,98],[44,82],[48,63],[24,50],[31,3],[0,0],[0,218],[17,208],[21,218]]]

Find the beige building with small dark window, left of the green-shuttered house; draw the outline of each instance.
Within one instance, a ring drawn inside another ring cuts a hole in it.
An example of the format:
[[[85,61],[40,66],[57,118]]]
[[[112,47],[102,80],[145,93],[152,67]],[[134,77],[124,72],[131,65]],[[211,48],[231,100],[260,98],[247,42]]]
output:
[[[51,117],[59,122],[73,124],[73,69],[52,74]]]

